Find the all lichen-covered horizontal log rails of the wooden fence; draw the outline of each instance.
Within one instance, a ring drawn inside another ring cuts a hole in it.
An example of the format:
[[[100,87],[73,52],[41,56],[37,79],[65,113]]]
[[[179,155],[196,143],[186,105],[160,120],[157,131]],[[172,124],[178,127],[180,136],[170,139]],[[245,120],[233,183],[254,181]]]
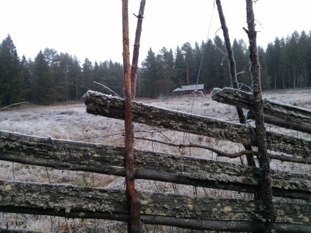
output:
[[[214,100],[252,109],[252,96],[215,89]],[[88,91],[86,111],[124,119],[124,100]],[[277,106],[277,107],[276,107]],[[310,129],[311,112],[265,100],[265,113]],[[280,115],[283,113],[283,115]],[[240,142],[256,147],[254,128],[133,102],[133,122]],[[311,141],[267,131],[270,158],[311,164]],[[254,152],[256,154],[256,152]],[[260,171],[229,162],[134,151],[135,179],[258,193]],[[38,138],[0,131],[0,159],[28,165],[125,176],[124,147]],[[222,156],[219,153],[219,156]],[[311,175],[272,171],[277,232],[311,232]],[[138,192],[144,223],[196,230],[264,232],[261,201]],[[124,190],[0,180],[0,212],[129,221]]]

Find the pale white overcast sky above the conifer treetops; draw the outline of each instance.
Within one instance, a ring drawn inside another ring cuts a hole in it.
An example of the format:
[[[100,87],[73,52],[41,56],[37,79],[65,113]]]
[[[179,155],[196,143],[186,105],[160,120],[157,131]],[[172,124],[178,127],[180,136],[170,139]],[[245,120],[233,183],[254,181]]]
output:
[[[245,0],[222,0],[230,39],[247,35]],[[254,3],[257,44],[266,48],[275,37],[287,37],[294,30],[311,30],[310,0],[258,0]],[[130,48],[133,50],[140,0],[129,0]],[[214,12],[213,12],[214,9]],[[121,0],[1,0],[0,41],[8,34],[19,57],[34,58],[39,50],[54,48],[58,53],[87,57],[94,64],[112,59],[122,62]],[[211,28],[209,24],[211,21]],[[146,0],[140,62],[152,48],[164,46],[175,52],[177,45],[223,39],[214,0]],[[217,31],[218,30],[218,31]],[[209,32],[209,33],[208,33]]]

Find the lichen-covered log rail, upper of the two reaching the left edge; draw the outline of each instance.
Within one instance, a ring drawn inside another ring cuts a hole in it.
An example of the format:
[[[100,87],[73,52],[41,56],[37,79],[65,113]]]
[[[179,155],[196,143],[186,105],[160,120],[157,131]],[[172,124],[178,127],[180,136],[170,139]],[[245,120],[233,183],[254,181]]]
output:
[[[135,149],[135,178],[254,193],[260,169]],[[0,131],[0,160],[125,176],[125,148]],[[311,201],[311,175],[271,173],[274,196]]]

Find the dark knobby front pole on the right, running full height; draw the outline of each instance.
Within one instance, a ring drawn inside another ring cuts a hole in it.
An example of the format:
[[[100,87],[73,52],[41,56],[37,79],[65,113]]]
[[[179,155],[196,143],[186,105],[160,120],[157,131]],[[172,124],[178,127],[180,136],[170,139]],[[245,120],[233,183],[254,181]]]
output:
[[[246,0],[247,36],[249,39],[249,60],[252,75],[252,93],[254,100],[256,140],[258,147],[258,162],[261,168],[261,199],[265,212],[265,232],[276,232],[276,211],[273,203],[270,159],[267,155],[267,138],[265,119],[263,115],[263,96],[261,92],[261,72],[257,52],[255,19],[253,1]]]

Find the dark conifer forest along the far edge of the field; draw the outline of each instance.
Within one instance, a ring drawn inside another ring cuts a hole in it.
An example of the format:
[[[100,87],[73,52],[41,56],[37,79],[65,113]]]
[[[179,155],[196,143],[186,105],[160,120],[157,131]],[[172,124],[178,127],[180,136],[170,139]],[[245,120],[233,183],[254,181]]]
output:
[[[251,86],[247,44],[243,39],[232,43],[238,82],[247,90]],[[302,88],[311,86],[311,32],[293,32],[276,38],[267,49],[258,46],[262,88]],[[89,89],[123,96],[123,64],[85,59],[57,53],[53,48],[39,51],[35,59],[21,59],[10,35],[0,44],[0,105],[17,102],[50,104],[82,100]],[[150,48],[138,70],[136,96],[160,97],[182,85],[205,84],[205,88],[231,86],[225,44],[220,37],[186,42],[176,50],[163,47],[154,53]]]

